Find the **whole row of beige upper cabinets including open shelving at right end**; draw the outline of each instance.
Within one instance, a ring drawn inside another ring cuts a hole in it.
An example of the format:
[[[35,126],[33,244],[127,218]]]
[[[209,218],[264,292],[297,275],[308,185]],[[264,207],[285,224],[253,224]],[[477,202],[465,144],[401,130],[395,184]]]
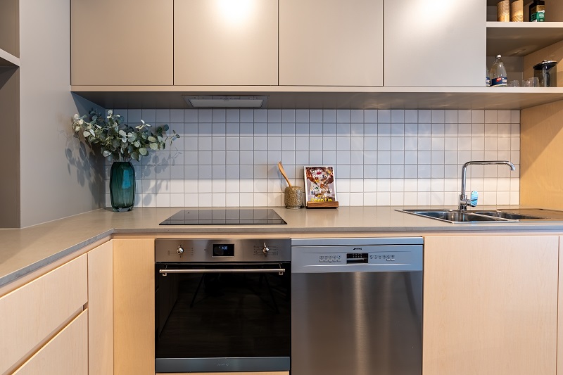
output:
[[[563,83],[485,87],[492,54],[510,81],[563,58],[561,0],[545,0],[545,23],[496,22],[498,0],[71,1],[71,89],[105,108],[186,108],[182,95],[210,94],[267,95],[267,108],[498,110],[563,99]]]

